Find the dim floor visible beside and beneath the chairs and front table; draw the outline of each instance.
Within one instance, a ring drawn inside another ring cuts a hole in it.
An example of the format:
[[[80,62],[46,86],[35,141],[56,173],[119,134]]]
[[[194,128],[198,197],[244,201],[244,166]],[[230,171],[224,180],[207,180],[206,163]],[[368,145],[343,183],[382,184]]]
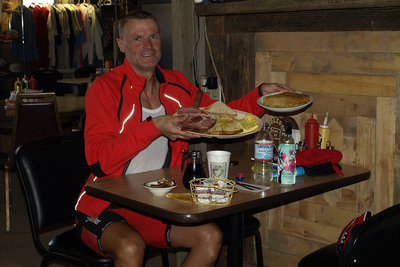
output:
[[[21,192],[18,177],[15,172],[10,173],[11,178],[11,233],[5,232],[5,201],[4,201],[4,172],[0,171],[0,266],[1,267],[31,267],[40,266],[41,257],[33,245],[28,221],[25,200]],[[65,230],[65,229],[62,229]],[[43,235],[43,241],[47,242],[57,231]],[[247,243],[247,242],[246,242]],[[221,258],[217,266],[226,266],[223,248]],[[170,253],[170,266],[179,266],[185,252]],[[51,266],[67,266],[52,264]],[[147,260],[146,267],[161,266],[161,257],[155,256]],[[254,263],[245,263],[245,267],[255,266]]]

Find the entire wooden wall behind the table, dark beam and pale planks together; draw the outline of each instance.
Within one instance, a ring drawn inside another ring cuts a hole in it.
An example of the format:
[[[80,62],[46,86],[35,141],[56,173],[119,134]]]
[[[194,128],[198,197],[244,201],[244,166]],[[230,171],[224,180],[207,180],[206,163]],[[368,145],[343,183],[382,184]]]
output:
[[[257,214],[266,266],[297,266],[306,254],[336,242],[355,216],[400,202],[399,7],[400,2],[373,0],[246,0],[196,7],[206,17],[228,101],[261,82],[308,92],[313,105],[294,116],[302,136],[311,113],[321,122],[328,111],[342,162],[371,170],[363,183]],[[243,152],[251,149],[251,140],[230,147]],[[250,239],[247,244],[247,256],[255,261],[254,245]]]

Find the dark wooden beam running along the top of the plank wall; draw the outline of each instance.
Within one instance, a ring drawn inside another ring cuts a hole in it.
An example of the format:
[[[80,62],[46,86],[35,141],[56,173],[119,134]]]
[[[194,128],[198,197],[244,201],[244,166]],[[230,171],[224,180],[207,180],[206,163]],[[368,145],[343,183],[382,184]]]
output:
[[[400,7],[226,15],[226,32],[396,31]]]

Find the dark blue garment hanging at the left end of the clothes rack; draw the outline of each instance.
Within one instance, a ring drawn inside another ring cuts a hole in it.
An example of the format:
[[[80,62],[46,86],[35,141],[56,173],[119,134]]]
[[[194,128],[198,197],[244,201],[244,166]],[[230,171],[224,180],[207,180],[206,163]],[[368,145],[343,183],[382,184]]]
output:
[[[24,45],[22,44],[21,8],[24,18]],[[25,62],[37,60],[38,52],[32,10],[25,6],[18,6],[12,13],[11,29],[18,32],[18,39],[11,43],[12,58]]]

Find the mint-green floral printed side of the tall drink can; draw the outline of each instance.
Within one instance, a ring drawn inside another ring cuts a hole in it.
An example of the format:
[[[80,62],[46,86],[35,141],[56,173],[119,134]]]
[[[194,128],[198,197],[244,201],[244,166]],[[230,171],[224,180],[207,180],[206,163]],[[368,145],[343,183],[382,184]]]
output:
[[[296,145],[280,144],[278,147],[278,171],[280,184],[296,183]]]

